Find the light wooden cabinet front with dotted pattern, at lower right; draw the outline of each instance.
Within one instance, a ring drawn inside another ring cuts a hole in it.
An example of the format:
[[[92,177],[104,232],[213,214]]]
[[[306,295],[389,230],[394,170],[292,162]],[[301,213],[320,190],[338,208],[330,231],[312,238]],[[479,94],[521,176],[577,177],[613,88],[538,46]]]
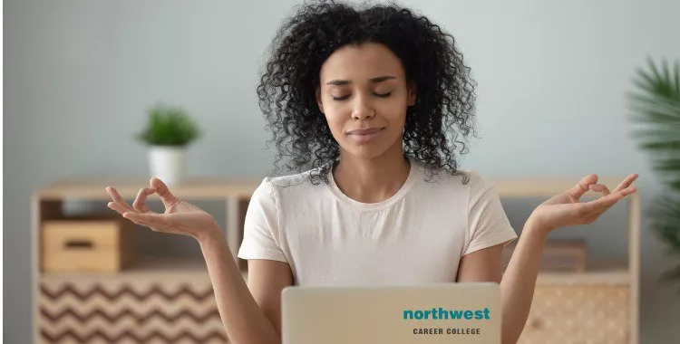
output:
[[[629,343],[627,286],[537,286],[519,343]]]

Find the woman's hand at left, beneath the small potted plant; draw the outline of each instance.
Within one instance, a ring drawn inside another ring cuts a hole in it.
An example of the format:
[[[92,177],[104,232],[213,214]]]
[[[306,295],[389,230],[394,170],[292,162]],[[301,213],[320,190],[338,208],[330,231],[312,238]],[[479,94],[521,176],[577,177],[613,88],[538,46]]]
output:
[[[159,178],[152,177],[150,184],[151,186],[140,189],[132,205],[128,205],[115,188],[107,186],[106,192],[113,199],[113,202],[109,202],[109,207],[133,223],[158,232],[189,235],[198,240],[210,231],[219,230],[212,215],[172,195],[168,186]],[[158,194],[163,201],[163,214],[152,212],[144,204],[146,198],[153,194]]]

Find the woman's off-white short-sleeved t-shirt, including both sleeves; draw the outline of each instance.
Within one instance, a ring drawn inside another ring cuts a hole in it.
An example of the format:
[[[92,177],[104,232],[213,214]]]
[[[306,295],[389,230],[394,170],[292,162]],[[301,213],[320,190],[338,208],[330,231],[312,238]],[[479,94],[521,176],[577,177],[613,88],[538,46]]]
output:
[[[242,259],[285,262],[294,285],[455,282],[461,257],[517,234],[496,187],[475,171],[425,180],[411,160],[392,197],[361,203],[335,185],[312,184],[310,171],[266,177],[250,199]]]

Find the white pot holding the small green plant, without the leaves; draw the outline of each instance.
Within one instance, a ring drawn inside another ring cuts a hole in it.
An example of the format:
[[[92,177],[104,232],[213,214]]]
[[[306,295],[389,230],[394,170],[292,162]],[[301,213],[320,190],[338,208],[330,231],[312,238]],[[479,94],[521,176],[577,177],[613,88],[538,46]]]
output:
[[[149,167],[151,177],[157,177],[167,186],[179,185],[184,178],[185,151],[183,147],[151,146]]]

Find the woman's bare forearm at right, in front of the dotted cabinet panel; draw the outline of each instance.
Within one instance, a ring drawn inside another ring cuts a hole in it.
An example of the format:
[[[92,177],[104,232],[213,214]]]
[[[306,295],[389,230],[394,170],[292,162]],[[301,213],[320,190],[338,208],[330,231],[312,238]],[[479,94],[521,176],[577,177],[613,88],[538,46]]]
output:
[[[516,343],[524,330],[536,287],[543,246],[548,236],[546,233],[548,231],[527,221],[500,281],[503,344]]]

